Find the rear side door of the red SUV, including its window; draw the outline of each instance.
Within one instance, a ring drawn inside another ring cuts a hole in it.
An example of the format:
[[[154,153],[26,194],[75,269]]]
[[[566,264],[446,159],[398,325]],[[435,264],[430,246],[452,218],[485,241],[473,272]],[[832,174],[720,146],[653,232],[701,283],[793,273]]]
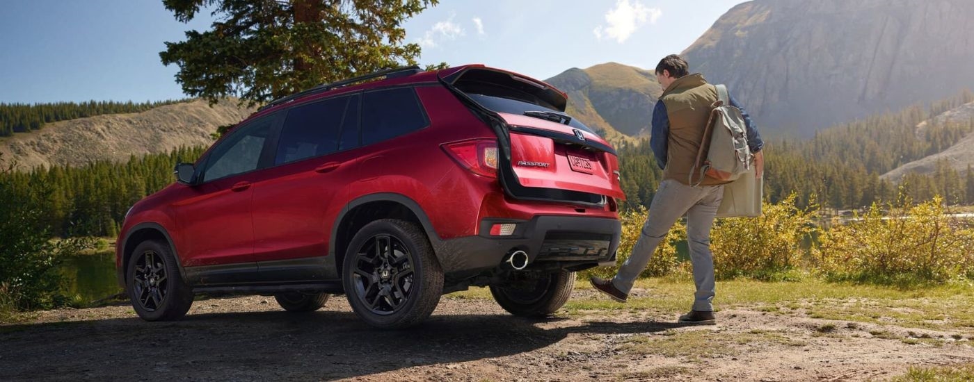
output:
[[[359,98],[355,94],[317,100],[287,111],[274,143],[273,174],[257,179],[253,187],[255,260],[328,254],[326,217],[344,206],[340,201],[348,191],[354,159],[348,151],[358,145]],[[264,265],[261,273],[273,271]]]

